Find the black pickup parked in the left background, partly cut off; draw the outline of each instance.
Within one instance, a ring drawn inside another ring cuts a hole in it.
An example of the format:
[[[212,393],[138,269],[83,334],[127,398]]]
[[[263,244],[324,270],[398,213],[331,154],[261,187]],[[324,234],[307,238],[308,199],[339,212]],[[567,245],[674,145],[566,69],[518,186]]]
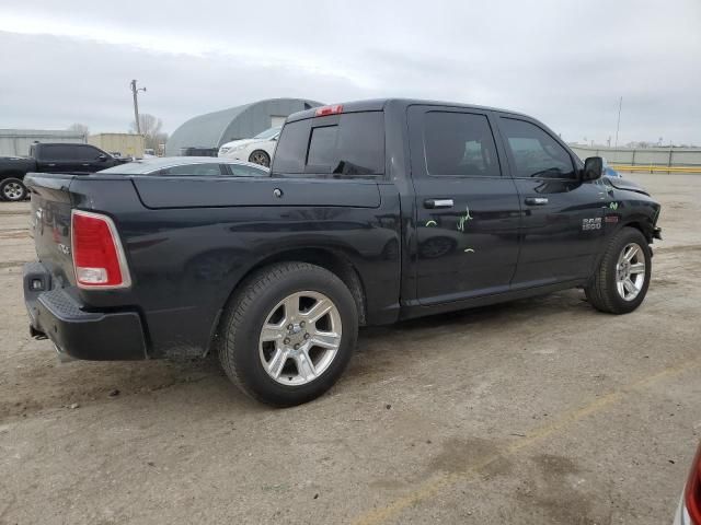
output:
[[[94,173],[125,162],[90,144],[37,142],[30,147],[30,156],[0,156],[0,199],[24,200],[23,180],[30,172]]]

